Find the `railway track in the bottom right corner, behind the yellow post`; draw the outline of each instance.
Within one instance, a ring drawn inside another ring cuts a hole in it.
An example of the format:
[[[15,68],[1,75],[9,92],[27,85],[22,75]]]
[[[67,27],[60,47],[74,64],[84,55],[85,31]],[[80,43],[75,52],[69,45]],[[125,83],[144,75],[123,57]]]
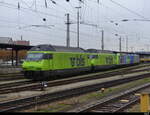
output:
[[[139,92],[145,88],[150,88],[150,83],[123,91],[117,95],[101,99],[69,112],[123,112],[125,109],[140,102]]]

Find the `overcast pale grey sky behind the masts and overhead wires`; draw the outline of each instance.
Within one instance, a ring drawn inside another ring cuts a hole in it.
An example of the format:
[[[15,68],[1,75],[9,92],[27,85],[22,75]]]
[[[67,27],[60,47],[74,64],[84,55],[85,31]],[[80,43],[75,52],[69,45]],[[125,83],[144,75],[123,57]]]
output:
[[[47,8],[46,8],[46,3]],[[56,4],[52,3],[54,1]],[[13,40],[30,40],[32,45],[66,45],[66,13],[70,14],[71,46],[77,46],[77,7],[78,0],[0,0],[0,36]],[[98,25],[95,28],[80,25],[80,46],[82,48],[101,48],[101,28],[104,30],[106,50],[118,50],[119,36],[122,49],[126,49],[128,36],[129,51],[150,50],[149,0],[82,0],[80,21]],[[99,2],[98,2],[99,1]],[[18,8],[18,3],[20,9]],[[43,21],[46,18],[46,21]],[[122,19],[131,21],[122,22]],[[113,22],[113,23],[111,23]],[[116,25],[118,23],[118,25]],[[31,27],[45,25],[46,27]],[[50,26],[54,25],[54,26]],[[118,34],[119,36],[115,36]]]

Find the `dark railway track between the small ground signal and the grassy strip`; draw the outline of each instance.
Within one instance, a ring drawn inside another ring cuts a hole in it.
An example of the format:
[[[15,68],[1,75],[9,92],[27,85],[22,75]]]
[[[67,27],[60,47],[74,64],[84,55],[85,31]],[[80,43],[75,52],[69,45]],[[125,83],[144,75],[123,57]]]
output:
[[[97,84],[92,84],[92,85],[87,85],[87,86],[82,86],[82,87],[64,89],[61,91],[31,96],[31,97],[17,99],[17,100],[13,100],[13,101],[1,102],[0,103],[0,112],[19,111],[22,109],[24,110],[24,109],[34,107],[36,105],[41,105],[41,104],[53,102],[56,100],[62,100],[64,98],[69,98],[69,97],[78,96],[81,94],[97,91],[100,88],[108,88],[108,87],[112,87],[112,86],[117,86],[117,85],[120,85],[123,83],[128,83],[128,82],[131,82],[134,80],[138,80],[141,78],[147,78],[149,76],[150,76],[150,73],[147,73],[147,74],[137,75],[134,77],[116,79],[116,80],[111,80],[111,81],[107,81],[107,82],[102,82],[102,83],[97,83]],[[149,85],[147,85],[147,86],[149,86]]]

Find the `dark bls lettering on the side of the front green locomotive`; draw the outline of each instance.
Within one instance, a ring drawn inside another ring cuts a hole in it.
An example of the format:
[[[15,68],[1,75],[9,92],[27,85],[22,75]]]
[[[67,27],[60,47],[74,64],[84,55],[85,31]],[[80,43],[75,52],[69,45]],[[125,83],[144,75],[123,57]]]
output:
[[[85,65],[85,59],[82,56],[79,57],[71,57],[70,58],[71,66],[84,66]]]

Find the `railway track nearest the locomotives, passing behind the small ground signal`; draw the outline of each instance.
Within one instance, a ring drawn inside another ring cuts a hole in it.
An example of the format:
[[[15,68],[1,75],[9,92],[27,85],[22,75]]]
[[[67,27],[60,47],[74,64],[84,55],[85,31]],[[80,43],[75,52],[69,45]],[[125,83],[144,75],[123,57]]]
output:
[[[105,77],[112,77],[114,75],[125,75],[129,73],[137,73],[142,71],[149,71],[150,68],[141,69],[141,70],[126,70],[123,69],[123,71],[111,71],[111,72],[104,72],[104,73],[96,73],[96,74],[89,74],[87,76],[84,75],[84,77],[73,77],[73,78],[67,78],[62,80],[54,80],[47,82],[48,87],[54,87],[59,85],[65,85],[65,84],[71,84],[81,81],[87,81],[87,80],[94,80],[99,78],[105,78]],[[125,71],[127,71],[125,73]],[[0,94],[5,93],[13,93],[13,92],[19,92],[19,91],[27,91],[27,90],[36,90],[41,89],[43,86],[41,85],[41,82],[33,82],[33,81],[21,81],[21,82],[14,82],[14,83],[7,83],[7,84],[1,84],[0,85]]]

